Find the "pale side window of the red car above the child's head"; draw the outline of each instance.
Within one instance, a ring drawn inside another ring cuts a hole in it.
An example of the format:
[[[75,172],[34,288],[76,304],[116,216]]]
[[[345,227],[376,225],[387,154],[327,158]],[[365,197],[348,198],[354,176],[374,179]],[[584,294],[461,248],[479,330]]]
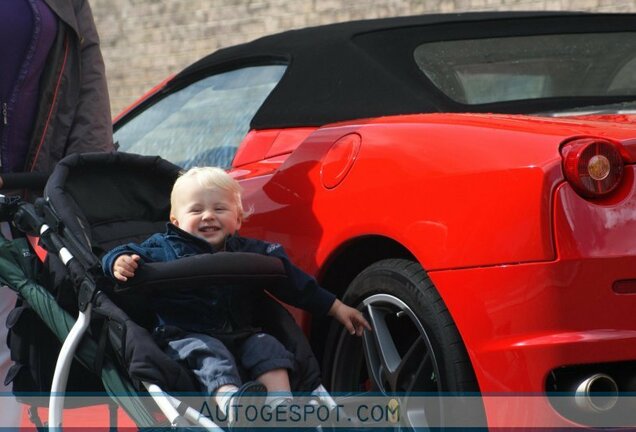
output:
[[[171,92],[119,126],[119,150],[159,155],[183,168],[230,167],[250,122],[286,65],[250,66]]]

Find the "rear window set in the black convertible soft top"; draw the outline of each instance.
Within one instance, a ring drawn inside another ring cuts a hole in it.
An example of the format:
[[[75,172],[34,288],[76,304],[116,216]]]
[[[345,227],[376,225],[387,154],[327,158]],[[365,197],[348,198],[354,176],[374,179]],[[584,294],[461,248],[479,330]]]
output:
[[[455,102],[636,95],[636,33],[552,34],[427,42],[424,75]]]

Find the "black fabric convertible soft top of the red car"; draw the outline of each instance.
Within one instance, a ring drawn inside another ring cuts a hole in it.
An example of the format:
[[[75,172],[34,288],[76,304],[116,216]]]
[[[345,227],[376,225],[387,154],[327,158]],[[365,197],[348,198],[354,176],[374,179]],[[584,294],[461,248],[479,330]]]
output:
[[[427,41],[635,28],[636,14],[581,12],[479,12],[353,21],[287,31],[221,49],[182,71],[169,88],[240,66],[288,64],[283,79],[253,118],[254,129],[469,111],[445,97],[417,69],[415,47]],[[470,111],[505,112],[496,104],[471,105]]]

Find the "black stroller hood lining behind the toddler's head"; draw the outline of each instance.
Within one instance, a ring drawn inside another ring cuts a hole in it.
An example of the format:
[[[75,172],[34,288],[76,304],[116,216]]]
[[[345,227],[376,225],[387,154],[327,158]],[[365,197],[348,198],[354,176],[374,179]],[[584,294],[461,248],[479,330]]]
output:
[[[165,230],[179,171],[160,157],[74,154],[57,165],[44,196],[73,237],[101,256]]]

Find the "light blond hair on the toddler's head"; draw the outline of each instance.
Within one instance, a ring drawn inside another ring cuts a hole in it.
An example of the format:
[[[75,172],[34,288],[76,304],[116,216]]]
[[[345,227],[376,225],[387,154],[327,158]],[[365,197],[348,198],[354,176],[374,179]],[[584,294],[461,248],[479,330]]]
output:
[[[247,218],[252,213],[251,209],[248,211],[243,209],[243,188],[239,182],[232,178],[224,169],[218,167],[195,167],[182,173],[174,182],[172,193],[170,194],[170,206],[173,209],[176,208],[178,191],[190,179],[195,180],[199,186],[205,189],[221,189],[231,193],[234,196],[241,219]]]

